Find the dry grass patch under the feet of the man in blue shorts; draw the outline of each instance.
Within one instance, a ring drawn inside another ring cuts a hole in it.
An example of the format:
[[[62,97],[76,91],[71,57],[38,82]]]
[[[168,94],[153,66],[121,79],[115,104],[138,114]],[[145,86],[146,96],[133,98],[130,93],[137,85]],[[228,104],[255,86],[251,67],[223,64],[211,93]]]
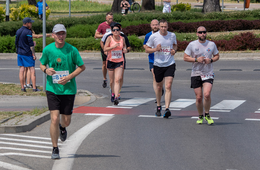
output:
[[[42,87],[38,87],[43,89]],[[43,91],[33,92],[33,89],[26,88],[26,92],[21,91],[21,85],[16,84],[0,84],[0,95],[26,95],[26,96],[46,96],[46,93]]]

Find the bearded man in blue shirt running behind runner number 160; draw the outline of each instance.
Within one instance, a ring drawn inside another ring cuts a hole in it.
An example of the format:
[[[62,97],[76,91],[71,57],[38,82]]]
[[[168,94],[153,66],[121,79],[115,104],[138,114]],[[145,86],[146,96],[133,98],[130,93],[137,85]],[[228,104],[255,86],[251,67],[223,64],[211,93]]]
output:
[[[155,32],[158,32],[159,31],[159,21],[157,19],[154,19],[151,21],[151,28],[152,28],[152,31],[147,33],[145,35],[145,38],[144,38],[144,49],[146,48],[146,43],[149,39],[149,37],[154,34]],[[153,87],[154,87],[154,92],[156,92],[156,81],[155,81],[155,78],[154,78],[154,53],[151,53],[148,55],[148,58],[149,58],[149,67],[150,67],[150,71],[152,72],[153,74]],[[164,89],[162,87],[162,95],[164,93]],[[155,99],[154,103],[157,103],[157,100]]]

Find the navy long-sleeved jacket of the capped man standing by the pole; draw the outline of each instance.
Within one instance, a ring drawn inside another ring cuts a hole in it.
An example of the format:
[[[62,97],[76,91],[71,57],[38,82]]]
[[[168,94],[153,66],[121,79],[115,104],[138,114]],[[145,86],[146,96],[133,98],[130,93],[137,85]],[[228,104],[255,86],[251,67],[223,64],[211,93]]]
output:
[[[18,42],[18,37],[19,42]],[[32,56],[33,52],[31,47],[34,47],[33,44],[33,33],[26,26],[22,26],[22,28],[16,31],[15,35],[15,45],[19,44],[18,54]]]

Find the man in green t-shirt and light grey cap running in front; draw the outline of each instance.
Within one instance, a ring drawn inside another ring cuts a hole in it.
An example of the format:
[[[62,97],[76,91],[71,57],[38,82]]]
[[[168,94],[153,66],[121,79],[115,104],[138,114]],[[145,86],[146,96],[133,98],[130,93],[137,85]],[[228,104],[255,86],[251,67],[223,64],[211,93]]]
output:
[[[65,42],[66,34],[64,25],[56,24],[52,30],[55,42],[43,49],[40,58],[40,68],[47,74],[46,95],[51,117],[52,159],[60,158],[58,138],[60,136],[61,141],[67,138],[66,127],[71,122],[77,92],[75,77],[85,70],[77,48]]]

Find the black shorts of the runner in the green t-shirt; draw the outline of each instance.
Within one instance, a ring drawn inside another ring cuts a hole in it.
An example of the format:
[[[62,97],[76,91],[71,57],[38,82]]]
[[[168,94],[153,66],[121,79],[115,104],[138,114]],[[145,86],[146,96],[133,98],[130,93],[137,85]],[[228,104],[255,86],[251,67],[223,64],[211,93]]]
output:
[[[56,95],[47,90],[46,95],[49,110],[59,110],[63,115],[72,114],[75,95]]]

